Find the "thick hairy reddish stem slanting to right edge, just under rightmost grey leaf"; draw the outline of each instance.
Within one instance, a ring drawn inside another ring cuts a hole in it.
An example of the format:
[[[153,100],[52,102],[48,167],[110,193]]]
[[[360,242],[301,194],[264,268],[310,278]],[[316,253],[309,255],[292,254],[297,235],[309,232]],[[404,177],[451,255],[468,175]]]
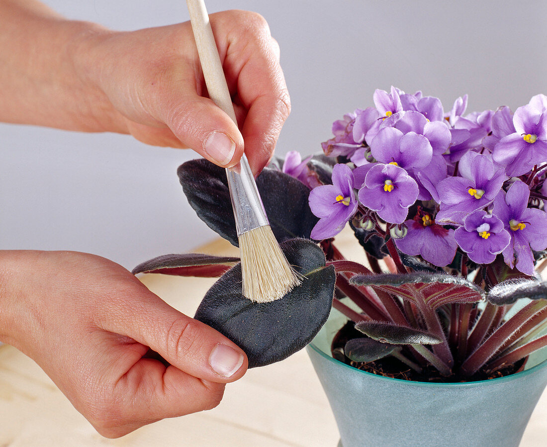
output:
[[[463,362],[461,372],[465,376],[475,374],[510,337],[525,325],[528,320],[537,321],[540,312],[547,308],[545,300],[532,301],[517,312],[512,318],[499,326],[494,332]],[[534,318],[535,317],[535,318]]]

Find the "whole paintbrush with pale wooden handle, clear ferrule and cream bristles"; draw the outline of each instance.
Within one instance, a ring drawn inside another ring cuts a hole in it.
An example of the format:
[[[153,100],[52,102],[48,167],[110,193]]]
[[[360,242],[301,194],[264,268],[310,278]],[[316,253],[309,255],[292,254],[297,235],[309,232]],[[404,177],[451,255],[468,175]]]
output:
[[[209,96],[237,125],[205,3],[187,0],[187,5]],[[243,296],[255,302],[280,299],[300,284],[300,276],[270,228],[245,154],[233,168],[226,168],[226,176],[240,245]]]

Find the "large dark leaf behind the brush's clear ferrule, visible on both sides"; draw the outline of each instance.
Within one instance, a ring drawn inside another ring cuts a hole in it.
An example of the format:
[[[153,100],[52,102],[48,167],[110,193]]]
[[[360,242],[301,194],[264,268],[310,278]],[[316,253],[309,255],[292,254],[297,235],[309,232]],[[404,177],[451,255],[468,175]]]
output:
[[[177,173],[184,194],[200,219],[237,247],[225,169],[197,159],[183,163]],[[257,177],[257,187],[278,241],[310,237],[318,218],[308,205],[310,189],[307,186],[275,168],[265,168]]]

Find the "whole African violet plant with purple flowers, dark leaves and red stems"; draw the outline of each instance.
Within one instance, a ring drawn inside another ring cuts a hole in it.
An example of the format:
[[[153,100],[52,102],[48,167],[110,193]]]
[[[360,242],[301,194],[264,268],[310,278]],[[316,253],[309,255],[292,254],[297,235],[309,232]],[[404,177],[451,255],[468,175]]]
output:
[[[356,329],[333,354],[359,368],[388,374],[394,364],[425,381],[515,372],[547,345],[547,97],[514,114],[467,115],[467,96],[449,113],[421,92],[392,87],[373,99],[334,123],[324,154],[289,152],[257,179],[301,286],[252,303],[237,259],[204,255],[162,256],[135,272],[222,274],[196,318],[245,349],[251,366],[305,346],[333,306]],[[237,245],[223,170],[200,160],[178,174],[201,219]],[[335,247],[348,223],[367,266]]]

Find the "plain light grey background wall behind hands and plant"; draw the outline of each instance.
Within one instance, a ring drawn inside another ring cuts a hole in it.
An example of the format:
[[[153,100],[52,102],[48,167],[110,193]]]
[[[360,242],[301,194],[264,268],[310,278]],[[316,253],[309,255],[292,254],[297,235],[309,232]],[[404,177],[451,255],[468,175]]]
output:
[[[188,20],[183,0],[47,0],[118,30]],[[468,111],[547,93],[544,1],[207,0],[262,14],[281,46],[293,112],[277,153],[312,153],[331,123],[393,84]],[[2,86],[0,86],[0,94]],[[69,249],[132,268],[216,235],[190,209],[176,169],[189,150],[129,136],[0,124],[0,248]]]

